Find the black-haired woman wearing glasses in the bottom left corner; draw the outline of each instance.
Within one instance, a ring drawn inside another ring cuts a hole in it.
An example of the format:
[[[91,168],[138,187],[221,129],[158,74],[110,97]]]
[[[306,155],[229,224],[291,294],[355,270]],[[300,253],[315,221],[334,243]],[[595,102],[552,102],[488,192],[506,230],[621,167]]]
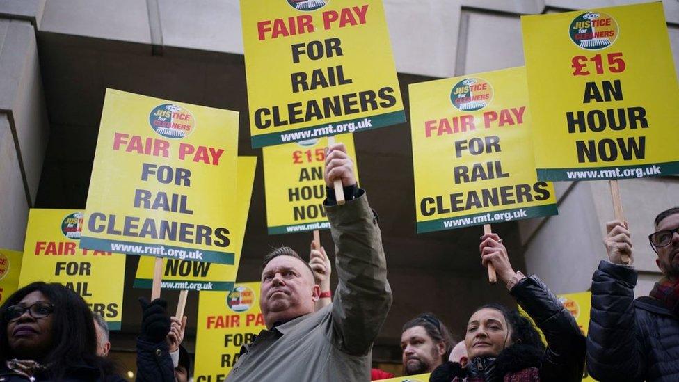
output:
[[[0,381],[125,381],[97,356],[92,312],[71,289],[33,282],[0,307]]]

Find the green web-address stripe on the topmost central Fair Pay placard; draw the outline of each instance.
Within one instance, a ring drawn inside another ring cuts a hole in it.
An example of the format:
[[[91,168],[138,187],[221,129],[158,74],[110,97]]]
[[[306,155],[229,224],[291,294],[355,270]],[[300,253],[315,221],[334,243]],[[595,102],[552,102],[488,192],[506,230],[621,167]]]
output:
[[[320,129],[322,127],[328,127],[328,125],[332,125],[333,127],[336,127],[337,125],[348,124],[348,123],[354,123],[354,124],[358,125],[358,122],[361,122],[364,119],[369,119],[372,126],[362,127],[360,129],[358,129],[358,127],[356,127],[356,129],[353,131],[353,133],[365,132],[366,130],[372,130],[372,129],[377,129],[379,127],[396,125],[398,123],[406,122],[406,113],[403,110],[398,110],[398,111],[392,111],[390,113],[378,114],[377,116],[367,116],[367,117],[361,117],[361,118],[351,119],[351,120],[341,120],[341,121],[337,121],[337,122],[323,123],[321,125],[301,127],[300,129],[286,130],[285,132],[253,135],[251,137],[251,141],[252,141],[253,148],[262,148],[264,146],[282,145],[283,143],[292,143],[292,142],[304,141],[305,139],[321,138],[321,136],[331,136],[331,135],[337,135],[337,134],[352,133],[349,130],[346,130],[346,131],[342,131],[342,132],[340,132],[340,131],[316,132],[314,134],[313,130],[314,129]],[[284,136],[284,135],[295,134],[295,133],[300,133],[300,132],[311,132],[311,134],[308,137],[301,137],[301,138],[298,138],[298,139],[292,139],[291,138],[291,139],[288,139],[286,141],[283,141],[283,139],[282,139],[282,136]]]

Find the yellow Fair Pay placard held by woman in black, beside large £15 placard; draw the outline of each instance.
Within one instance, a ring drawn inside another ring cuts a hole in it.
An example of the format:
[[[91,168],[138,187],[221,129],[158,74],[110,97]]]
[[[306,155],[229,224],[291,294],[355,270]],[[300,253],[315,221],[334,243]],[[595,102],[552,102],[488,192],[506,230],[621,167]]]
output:
[[[525,83],[514,67],[410,85],[417,232],[557,214]]]

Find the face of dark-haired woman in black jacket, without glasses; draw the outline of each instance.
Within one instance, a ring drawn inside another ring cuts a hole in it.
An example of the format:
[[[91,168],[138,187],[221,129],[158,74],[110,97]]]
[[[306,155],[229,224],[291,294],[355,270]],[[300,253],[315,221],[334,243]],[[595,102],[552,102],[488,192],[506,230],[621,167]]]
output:
[[[467,324],[465,346],[470,360],[497,356],[511,344],[511,331],[502,312],[484,308],[475,312]]]

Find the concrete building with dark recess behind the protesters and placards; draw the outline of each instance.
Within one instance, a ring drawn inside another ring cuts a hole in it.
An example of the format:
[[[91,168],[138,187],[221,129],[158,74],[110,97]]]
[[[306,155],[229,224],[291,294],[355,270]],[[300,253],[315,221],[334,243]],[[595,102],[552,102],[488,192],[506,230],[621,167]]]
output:
[[[520,15],[623,5],[627,0],[384,0],[404,102],[408,83],[523,65]],[[679,73],[679,2],[662,1]],[[0,2],[0,248],[23,248],[29,208],[83,208],[105,88],[241,112],[239,154],[250,148],[239,1],[3,0]],[[375,349],[398,363],[400,326],[431,310],[458,339],[470,312],[511,303],[490,287],[477,255],[479,229],[415,234],[408,125],[356,136],[362,186],[381,214],[394,306]],[[605,259],[613,218],[607,182],[556,184],[559,216],[506,223],[516,268],[537,273],[557,293],[589,289]],[[621,181],[630,221],[637,294],[659,278],[646,236],[662,209],[679,205],[679,179]],[[396,199],[399,198],[399,199]],[[399,200],[394,205],[392,200]],[[261,160],[239,280],[258,278],[269,244],[307,248],[304,235],[268,237]],[[323,240],[329,241],[328,232]],[[128,256],[131,285],[136,258]],[[114,349],[134,348],[140,315],[126,294]],[[173,294],[168,294],[175,299]],[[187,312],[195,312],[195,300]],[[195,314],[195,313],[194,313]],[[187,344],[193,349],[195,318]],[[126,334],[127,333],[127,334]],[[127,335],[127,337],[126,337]]]

